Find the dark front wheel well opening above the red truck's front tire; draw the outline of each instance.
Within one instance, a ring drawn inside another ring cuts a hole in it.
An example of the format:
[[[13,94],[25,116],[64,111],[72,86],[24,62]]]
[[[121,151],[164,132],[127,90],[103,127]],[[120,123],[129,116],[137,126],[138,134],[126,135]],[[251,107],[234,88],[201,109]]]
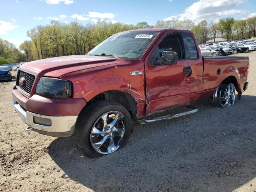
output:
[[[132,118],[136,118],[138,107],[136,100],[132,97],[131,94],[122,91],[110,90],[96,95],[88,102],[88,104],[92,104],[95,101],[104,99],[121,104],[128,110]]]

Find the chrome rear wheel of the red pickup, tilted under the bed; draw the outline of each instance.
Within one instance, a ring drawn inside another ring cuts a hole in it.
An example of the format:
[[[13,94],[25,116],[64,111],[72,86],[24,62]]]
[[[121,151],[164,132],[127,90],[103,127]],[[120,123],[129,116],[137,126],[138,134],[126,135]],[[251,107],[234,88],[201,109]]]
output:
[[[220,84],[214,92],[212,101],[217,106],[232,106],[235,102],[236,88],[234,84]]]

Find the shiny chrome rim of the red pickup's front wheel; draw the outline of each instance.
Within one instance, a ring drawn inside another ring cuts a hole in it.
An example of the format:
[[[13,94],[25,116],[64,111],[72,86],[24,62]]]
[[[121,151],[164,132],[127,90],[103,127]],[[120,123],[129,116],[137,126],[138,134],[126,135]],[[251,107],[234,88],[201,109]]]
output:
[[[124,115],[110,111],[100,116],[92,126],[90,142],[100,154],[110,154],[118,150],[125,132]]]

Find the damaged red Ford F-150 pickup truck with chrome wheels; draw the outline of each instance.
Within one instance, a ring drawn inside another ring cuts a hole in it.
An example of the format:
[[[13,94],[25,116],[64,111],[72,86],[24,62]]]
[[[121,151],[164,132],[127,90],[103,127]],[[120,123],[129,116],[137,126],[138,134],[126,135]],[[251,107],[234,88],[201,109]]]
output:
[[[210,99],[232,106],[248,86],[248,57],[202,57],[191,31],[114,34],[85,56],[28,62],[18,70],[14,112],[41,134],[74,136],[90,157],[125,146],[132,120],[141,124],[197,111]],[[150,117],[188,106],[184,112]]]

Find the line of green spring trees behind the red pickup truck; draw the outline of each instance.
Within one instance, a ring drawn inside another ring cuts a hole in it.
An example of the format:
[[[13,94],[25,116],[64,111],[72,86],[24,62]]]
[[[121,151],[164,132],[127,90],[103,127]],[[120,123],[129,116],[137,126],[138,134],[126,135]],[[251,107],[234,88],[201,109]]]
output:
[[[4,62],[32,61],[50,57],[85,54],[111,35],[126,30],[140,28],[170,28],[192,30],[199,43],[216,38],[235,40],[256,36],[256,17],[246,20],[234,20],[232,17],[221,18],[217,23],[202,20],[195,25],[192,20],[158,20],[155,25],[139,22],[136,25],[112,23],[98,20],[93,24],[82,25],[78,22],[65,24],[52,20],[46,26],[36,26],[27,31],[31,40],[26,40],[15,48],[12,43],[0,40],[0,60]]]

